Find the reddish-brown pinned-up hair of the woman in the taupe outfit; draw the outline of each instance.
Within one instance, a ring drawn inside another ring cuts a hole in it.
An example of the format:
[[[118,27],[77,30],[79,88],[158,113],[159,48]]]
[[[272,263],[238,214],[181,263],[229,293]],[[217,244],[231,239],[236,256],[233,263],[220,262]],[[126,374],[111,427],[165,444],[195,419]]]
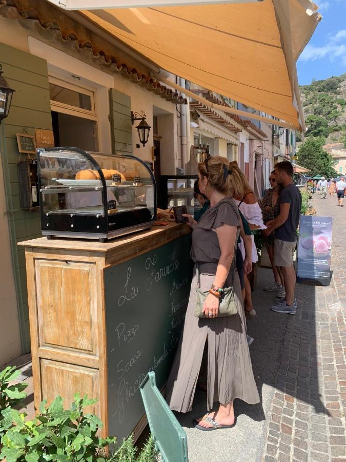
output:
[[[198,164],[199,173],[208,178],[210,186],[225,195],[232,192],[232,170],[226,157],[212,156]]]

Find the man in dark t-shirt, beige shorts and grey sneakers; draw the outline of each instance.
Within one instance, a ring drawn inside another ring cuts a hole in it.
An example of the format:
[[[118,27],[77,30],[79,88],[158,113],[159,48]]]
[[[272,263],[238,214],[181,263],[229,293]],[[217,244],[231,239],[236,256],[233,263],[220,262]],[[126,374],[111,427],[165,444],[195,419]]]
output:
[[[300,220],[301,194],[293,183],[293,166],[283,161],[275,165],[275,178],[283,186],[279,197],[279,215],[267,223],[263,234],[269,236],[274,231],[274,264],[283,276],[286,296],[277,298],[277,304],[271,306],[277,313],[295,314],[294,290],[296,273],[293,267],[294,251],[297,243],[297,229]]]

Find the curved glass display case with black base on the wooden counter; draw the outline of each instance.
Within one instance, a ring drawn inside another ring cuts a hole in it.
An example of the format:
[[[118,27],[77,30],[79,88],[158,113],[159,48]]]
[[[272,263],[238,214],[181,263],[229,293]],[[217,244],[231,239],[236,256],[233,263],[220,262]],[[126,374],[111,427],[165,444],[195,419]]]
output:
[[[105,242],[152,226],[156,185],[149,167],[127,155],[78,148],[37,150],[42,234]]]

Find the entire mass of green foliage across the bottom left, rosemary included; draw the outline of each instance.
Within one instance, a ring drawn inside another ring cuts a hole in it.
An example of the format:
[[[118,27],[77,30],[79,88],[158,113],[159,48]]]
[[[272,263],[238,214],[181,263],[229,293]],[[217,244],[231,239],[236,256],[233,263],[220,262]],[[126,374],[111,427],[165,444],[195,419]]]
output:
[[[26,420],[26,413],[13,409],[26,397],[27,383],[10,385],[21,371],[8,367],[0,372],[0,443],[3,444],[0,460],[7,462],[155,462],[158,460],[153,438],[137,454],[132,435],[124,439],[119,448],[107,458],[106,446],[116,438],[99,438],[102,422],[93,414],[84,414],[87,406],[97,399],[74,395],[70,409],[64,410],[63,399],[57,396],[47,407],[43,401],[39,414]],[[1,449],[1,445],[0,445]]]

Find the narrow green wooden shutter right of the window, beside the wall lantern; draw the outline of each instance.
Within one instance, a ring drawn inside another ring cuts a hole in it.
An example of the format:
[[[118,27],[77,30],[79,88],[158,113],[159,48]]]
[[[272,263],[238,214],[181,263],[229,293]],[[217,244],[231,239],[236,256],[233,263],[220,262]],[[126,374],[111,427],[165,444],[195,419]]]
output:
[[[112,150],[132,154],[131,97],[110,89]]]

